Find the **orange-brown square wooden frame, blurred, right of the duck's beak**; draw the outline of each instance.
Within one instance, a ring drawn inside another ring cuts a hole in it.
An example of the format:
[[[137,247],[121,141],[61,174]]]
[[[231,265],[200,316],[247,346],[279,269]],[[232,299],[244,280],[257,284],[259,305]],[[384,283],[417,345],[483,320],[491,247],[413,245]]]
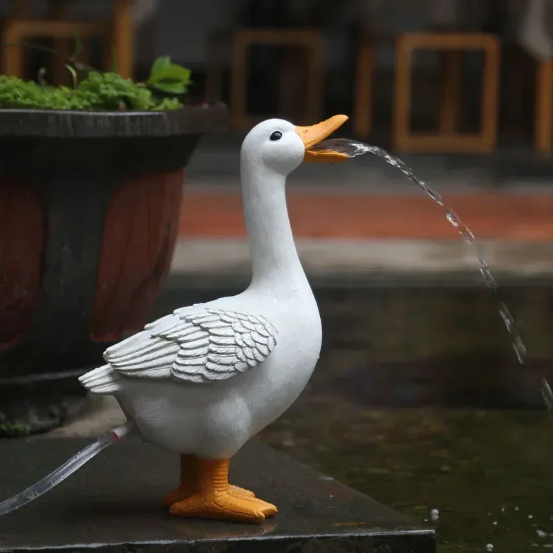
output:
[[[440,129],[433,135],[410,131],[411,66],[414,50],[446,50]],[[457,131],[463,51],[483,51],[481,129],[478,133]],[[478,33],[406,33],[396,41],[393,142],[395,149],[419,152],[485,153],[497,141],[500,43],[497,37]]]

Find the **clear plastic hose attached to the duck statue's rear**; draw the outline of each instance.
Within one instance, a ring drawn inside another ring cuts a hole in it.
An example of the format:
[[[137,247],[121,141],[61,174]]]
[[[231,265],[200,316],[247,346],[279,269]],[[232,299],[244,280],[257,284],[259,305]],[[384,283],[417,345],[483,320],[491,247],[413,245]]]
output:
[[[63,482],[68,476],[71,476],[71,474],[80,469],[84,463],[97,456],[97,454],[103,449],[106,449],[106,447],[124,438],[132,429],[133,423],[126,422],[121,427],[101,435],[95,442],[87,445],[84,449],[79,451],[77,455],[64,462],[61,467],[55,469],[55,471],[42,478],[42,480],[39,480],[36,484],[0,502],[0,516],[11,513],[15,511],[15,509],[19,509],[19,507],[23,507],[32,500],[39,498],[42,494],[46,494],[46,491],[50,491],[50,489]]]

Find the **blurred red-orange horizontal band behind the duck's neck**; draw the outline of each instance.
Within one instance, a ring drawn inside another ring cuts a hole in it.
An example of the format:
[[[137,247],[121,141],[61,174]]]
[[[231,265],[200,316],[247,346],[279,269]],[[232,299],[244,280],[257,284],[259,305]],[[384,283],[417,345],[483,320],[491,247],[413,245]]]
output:
[[[478,238],[553,239],[553,195],[462,194],[444,198]],[[423,196],[354,196],[294,192],[288,208],[297,238],[413,240],[456,238],[440,207]],[[242,238],[236,192],[185,193],[180,237]]]

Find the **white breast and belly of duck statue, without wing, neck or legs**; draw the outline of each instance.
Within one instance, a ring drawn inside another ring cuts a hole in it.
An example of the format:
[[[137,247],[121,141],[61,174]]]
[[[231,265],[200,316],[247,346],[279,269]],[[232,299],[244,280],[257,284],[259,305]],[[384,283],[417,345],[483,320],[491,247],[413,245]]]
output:
[[[127,379],[115,393],[142,438],[203,459],[230,458],[252,435],[278,418],[297,399],[312,375],[321,348],[321,321],[313,298],[281,305],[250,290],[203,304],[265,316],[278,340],[268,359],[225,382],[181,384]],[[297,307],[294,307],[297,306]],[[299,317],[294,317],[294,310]],[[173,316],[171,316],[173,317]],[[288,319],[294,319],[293,322]],[[301,339],[302,335],[309,338]]]

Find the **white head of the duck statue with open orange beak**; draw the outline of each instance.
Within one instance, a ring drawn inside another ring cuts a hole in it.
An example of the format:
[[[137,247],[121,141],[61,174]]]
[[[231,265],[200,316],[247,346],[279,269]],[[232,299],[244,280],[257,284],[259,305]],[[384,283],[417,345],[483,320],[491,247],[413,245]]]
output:
[[[335,163],[348,159],[346,153],[313,150],[325,138],[348,120],[346,115],[334,115],[311,126],[297,126],[282,119],[269,119],[254,126],[241,149],[241,160],[262,165],[287,176],[301,162]]]

